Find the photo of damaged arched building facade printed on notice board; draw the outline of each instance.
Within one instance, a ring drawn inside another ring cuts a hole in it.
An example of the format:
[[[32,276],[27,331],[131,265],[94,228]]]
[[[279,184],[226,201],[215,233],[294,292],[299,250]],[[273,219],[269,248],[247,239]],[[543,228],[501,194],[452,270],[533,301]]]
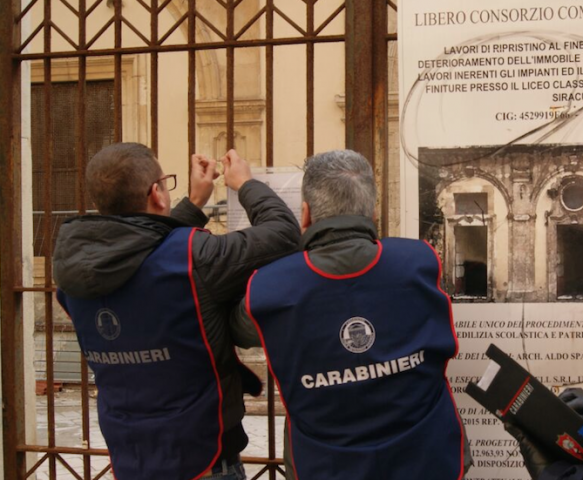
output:
[[[420,237],[458,302],[583,301],[583,145],[423,148]]]

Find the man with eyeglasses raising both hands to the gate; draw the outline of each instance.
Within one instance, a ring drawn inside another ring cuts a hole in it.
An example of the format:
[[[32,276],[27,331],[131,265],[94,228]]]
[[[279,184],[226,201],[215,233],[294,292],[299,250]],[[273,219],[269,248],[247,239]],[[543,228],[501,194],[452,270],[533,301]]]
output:
[[[243,392],[261,385],[234,351],[253,334],[229,312],[254,269],[297,248],[299,228],[234,150],[222,162],[248,229],[202,230],[215,160],[192,156],[189,198],[171,212],[176,176],[146,146],[118,143],[87,166],[99,215],[59,231],[57,296],[95,373],[117,480],[245,478]]]

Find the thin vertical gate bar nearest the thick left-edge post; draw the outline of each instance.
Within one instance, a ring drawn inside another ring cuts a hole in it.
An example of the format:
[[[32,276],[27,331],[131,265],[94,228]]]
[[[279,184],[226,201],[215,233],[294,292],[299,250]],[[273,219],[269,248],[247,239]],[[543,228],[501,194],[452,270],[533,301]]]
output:
[[[44,25],[44,53],[51,51],[51,1],[45,0],[45,25]],[[45,257],[45,287],[52,286],[52,254],[53,254],[53,231],[52,231],[52,188],[53,188],[53,122],[52,122],[52,82],[51,82],[51,60],[44,59],[44,148],[43,158],[43,210],[44,210],[44,251]],[[45,355],[46,355],[46,375],[47,375],[47,436],[49,448],[56,445],[55,432],[55,389],[54,389],[54,365],[53,365],[53,295],[50,291],[44,294],[45,297]],[[49,478],[57,478],[56,456],[49,454]]]

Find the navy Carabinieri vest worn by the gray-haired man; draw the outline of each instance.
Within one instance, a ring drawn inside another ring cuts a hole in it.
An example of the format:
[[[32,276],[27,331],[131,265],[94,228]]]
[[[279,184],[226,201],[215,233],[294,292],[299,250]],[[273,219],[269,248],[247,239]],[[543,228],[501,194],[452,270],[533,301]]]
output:
[[[247,311],[288,412],[298,480],[462,477],[440,268],[425,242],[394,238],[352,275],[327,275],[303,252],[251,278]]]

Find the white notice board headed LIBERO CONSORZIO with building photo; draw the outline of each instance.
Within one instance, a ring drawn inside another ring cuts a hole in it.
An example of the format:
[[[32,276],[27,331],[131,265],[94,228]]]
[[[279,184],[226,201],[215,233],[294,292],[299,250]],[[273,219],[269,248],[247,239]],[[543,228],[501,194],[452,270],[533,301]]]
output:
[[[464,393],[495,343],[548,387],[583,381],[583,0],[402,0],[402,235],[443,260],[448,377],[475,466],[527,480]]]

